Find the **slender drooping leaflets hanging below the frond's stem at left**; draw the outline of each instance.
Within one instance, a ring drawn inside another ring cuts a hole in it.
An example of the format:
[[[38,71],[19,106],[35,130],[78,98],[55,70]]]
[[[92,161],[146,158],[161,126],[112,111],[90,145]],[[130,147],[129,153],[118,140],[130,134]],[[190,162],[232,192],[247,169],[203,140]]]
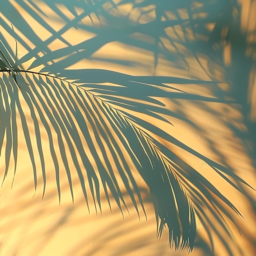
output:
[[[43,156],[43,150],[41,146],[41,135],[40,128],[38,124],[38,119],[43,124],[49,141],[49,149],[51,151],[52,160],[54,162],[54,167],[56,171],[56,185],[59,195],[59,200],[61,200],[61,189],[60,189],[60,177],[59,177],[59,168],[60,162],[56,157],[56,150],[60,150],[61,159],[63,161],[63,165],[65,167],[65,171],[67,173],[67,178],[70,185],[70,193],[72,195],[72,200],[74,200],[73,189],[72,189],[72,177],[70,171],[70,164],[67,161],[67,155],[65,152],[65,142],[68,146],[68,151],[71,153],[72,162],[76,166],[76,171],[79,176],[79,180],[81,182],[81,188],[83,190],[85,200],[88,203],[88,189],[92,198],[94,200],[95,209],[97,211],[96,203],[99,205],[99,209],[101,210],[100,203],[100,189],[99,189],[99,180],[101,180],[104,191],[106,193],[107,198],[108,190],[115,197],[115,200],[122,211],[120,201],[126,206],[124,202],[124,198],[122,196],[121,190],[119,188],[119,184],[117,183],[115,171],[113,168],[117,169],[121,175],[121,178],[128,190],[132,202],[134,203],[137,209],[137,203],[133,195],[133,191],[137,192],[137,195],[140,199],[141,205],[143,206],[141,196],[139,193],[139,189],[136,185],[136,182],[132,176],[132,173],[129,170],[128,164],[126,163],[125,157],[122,155],[123,152],[122,147],[120,148],[120,144],[117,139],[111,134],[113,133],[111,129],[106,130],[108,125],[104,125],[104,120],[98,119],[100,116],[99,113],[95,113],[92,106],[90,106],[90,94],[88,97],[83,95],[81,98],[81,94],[77,94],[72,88],[72,85],[68,86],[68,83],[60,81],[59,79],[49,78],[45,76],[36,76],[36,75],[28,75],[26,74],[26,79],[29,82],[29,87],[27,90],[21,89],[20,97],[23,97],[29,107],[29,111],[31,113],[31,118],[34,123],[34,130],[36,133],[37,140],[37,149],[40,155],[41,169],[43,172],[43,181],[44,181],[44,189],[43,194],[45,193],[46,186],[46,175],[45,175],[45,159]],[[29,150],[29,155],[31,158],[31,163],[34,170],[34,183],[35,188],[37,186],[37,171],[34,160],[34,151],[35,148],[31,146],[31,139],[29,136],[27,121],[25,119],[23,110],[20,105],[19,94],[17,93],[17,86],[11,78],[4,75],[3,78],[4,83],[2,82],[2,90],[6,88],[14,88],[13,92],[15,92],[15,97],[11,94],[12,101],[10,106],[12,106],[12,112],[15,113],[15,106],[19,112],[20,119],[22,122],[22,130],[25,135],[25,139],[27,142],[27,148]],[[10,81],[10,82],[9,82]],[[74,86],[74,85],[73,85]],[[7,124],[7,128],[11,127],[10,123],[10,115],[11,110],[7,101],[7,93],[3,93],[4,100],[6,104],[6,118],[9,122],[4,122],[4,118],[1,118],[1,134],[4,137],[4,128],[3,125]],[[80,96],[80,97],[79,97]],[[1,111],[2,112],[2,111]],[[37,113],[37,115],[36,115]],[[12,117],[13,119],[13,117]],[[81,128],[80,131],[76,130],[77,125]],[[10,127],[9,127],[10,126]],[[103,126],[103,127],[102,127]],[[15,128],[15,127],[14,127]],[[13,128],[13,129],[14,129]],[[9,131],[11,131],[9,129]],[[17,132],[17,131],[16,131]],[[54,145],[53,135],[52,133],[56,133],[58,139],[58,146]],[[9,159],[11,155],[11,148],[13,148],[13,152],[17,152],[17,136],[14,137],[13,143],[11,140],[11,135],[6,133],[7,136],[7,147],[6,147],[6,171],[4,177],[7,175],[8,167],[9,167]],[[9,137],[10,136],[10,137]],[[83,137],[83,138],[82,138]],[[109,138],[110,137],[110,138]],[[2,139],[3,140],[3,139]],[[64,142],[65,140],[65,142]],[[112,142],[113,141],[113,142]],[[113,145],[114,143],[114,145]],[[104,150],[104,148],[108,148],[109,150]],[[117,152],[116,152],[117,150]],[[79,155],[79,156],[78,156]],[[89,159],[88,155],[92,155],[93,159]],[[15,154],[16,161],[17,153]],[[120,160],[121,158],[121,160]],[[79,163],[79,159],[81,159],[82,166]],[[111,160],[114,160],[112,162]],[[49,159],[47,160],[49,161]],[[123,167],[124,166],[124,167]],[[81,168],[82,167],[82,168]],[[86,171],[84,171],[86,170]],[[100,178],[98,177],[98,174]],[[87,176],[87,182],[89,184],[89,188],[85,187],[85,177]],[[130,186],[132,184],[132,186]],[[110,202],[109,202],[110,204]],[[111,207],[111,206],[110,206]],[[89,204],[88,204],[89,209]],[[90,209],[89,209],[90,211]],[[139,213],[139,211],[138,211]],[[146,214],[146,213],[145,213]]]

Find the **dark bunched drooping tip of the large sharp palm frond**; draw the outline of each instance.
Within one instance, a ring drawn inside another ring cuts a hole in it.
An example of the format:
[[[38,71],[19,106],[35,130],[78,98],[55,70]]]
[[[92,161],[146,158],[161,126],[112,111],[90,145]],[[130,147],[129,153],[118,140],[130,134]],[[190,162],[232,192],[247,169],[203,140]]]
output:
[[[128,120],[132,119],[128,118]],[[139,123],[138,119],[133,119],[132,121],[135,124]],[[118,123],[122,125],[121,122]],[[156,212],[157,226],[159,226],[157,236],[161,237],[164,224],[166,223],[169,229],[170,247],[173,247],[174,244],[176,249],[189,247],[189,251],[192,250],[196,230],[196,213],[201,220],[202,218],[207,218],[213,231],[221,238],[222,243],[225,244],[230,255],[232,255],[231,249],[225,241],[225,236],[220,235],[219,231],[214,227],[213,219],[217,220],[227,234],[231,236],[228,224],[223,219],[222,213],[235,223],[228,209],[233,209],[238,216],[242,217],[236,207],[195,169],[186,164],[171,150],[164,148],[162,144],[158,143],[146,132],[138,129],[130,121],[122,126],[126,130],[126,137],[132,137],[134,132],[137,135],[137,140],[129,140],[129,146],[131,146],[136,156],[140,156],[137,169],[150,188]],[[141,152],[144,152],[146,157],[145,155],[143,157]],[[166,152],[168,157],[162,152]],[[211,164],[214,166],[216,163],[211,162]],[[220,168],[220,165],[216,165]],[[222,169],[225,168],[223,167]],[[234,183],[233,185],[235,186]],[[237,186],[235,187],[237,188]],[[212,194],[217,196],[217,199]],[[225,207],[219,201],[224,202]],[[204,214],[204,207],[202,205],[210,209],[212,220]],[[160,225],[158,225],[159,218],[161,220]],[[208,234],[211,239],[209,231]]]

